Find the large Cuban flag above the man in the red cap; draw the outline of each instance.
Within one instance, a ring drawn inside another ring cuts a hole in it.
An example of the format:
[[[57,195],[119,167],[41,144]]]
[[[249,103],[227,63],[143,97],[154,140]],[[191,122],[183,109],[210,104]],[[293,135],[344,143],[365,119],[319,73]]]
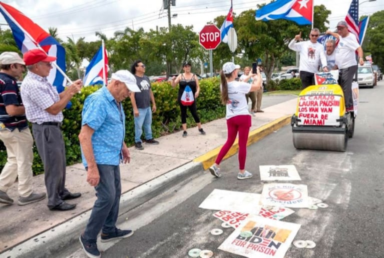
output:
[[[48,32],[14,7],[0,2],[0,12],[10,25],[15,41],[23,54],[40,46],[48,55],[57,57],[55,62],[59,66],[59,70],[53,65],[47,79],[52,85],[56,86],[59,93],[62,92],[67,82],[65,79],[64,47]]]

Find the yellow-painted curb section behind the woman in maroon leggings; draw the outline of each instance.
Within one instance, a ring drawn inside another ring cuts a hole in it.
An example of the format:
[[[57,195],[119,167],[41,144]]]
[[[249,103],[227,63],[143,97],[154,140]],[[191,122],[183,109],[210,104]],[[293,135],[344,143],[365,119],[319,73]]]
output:
[[[256,141],[259,141],[260,139],[267,136],[269,133],[280,129],[284,125],[289,124],[291,121],[291,116],[292,115],[283,116],[281,118],[273,120],[273,121],[257,128],[257,129],[255,129],[255,130],[249,132],[247,146],[249,146],[252,143],[255,143]],[[219,153],[221,147],[222,146],[217,147],[215,149],[212,149],[211,151],[208,151],[204,155],[196,157],[193,161],[201,162],[204,170],[206,170],[215,162],[216,156]],[[232,147],[228,150],[228,153],[224,156],[223,160],[236,154],[238,149],[239,149],[239,142],[238,142],[238,139],[236,138],[235,142],[233,143]]]

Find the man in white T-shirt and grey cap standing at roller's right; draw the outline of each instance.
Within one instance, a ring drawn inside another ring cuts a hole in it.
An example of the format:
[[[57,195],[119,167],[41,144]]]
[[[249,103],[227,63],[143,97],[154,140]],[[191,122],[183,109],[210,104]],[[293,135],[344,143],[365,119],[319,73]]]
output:
[[[363,65],[362,48],[357,42],[356,36],[349,33],[348,24],[345,20],[340,20],[337,23],[337,33],[332,32],[330,29],[328,29],[326,33],[331,34],[339,40],[335,49],[335,60],[339,69],[339,83],[344,92],[345,109],[346,111],[352,111],[352,80],[357,70],[355,51],[358,53],[359,64]]]

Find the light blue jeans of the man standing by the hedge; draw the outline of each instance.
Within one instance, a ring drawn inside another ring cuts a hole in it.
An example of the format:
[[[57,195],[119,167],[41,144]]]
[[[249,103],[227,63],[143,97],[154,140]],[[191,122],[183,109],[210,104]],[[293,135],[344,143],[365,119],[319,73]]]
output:
[[[138,108],[139,116],[134,116],[135,120],[135,142],[141,142],[141,134],[144,134],[146,139],[152,139],[152,109],[151,107],[147,108]]]

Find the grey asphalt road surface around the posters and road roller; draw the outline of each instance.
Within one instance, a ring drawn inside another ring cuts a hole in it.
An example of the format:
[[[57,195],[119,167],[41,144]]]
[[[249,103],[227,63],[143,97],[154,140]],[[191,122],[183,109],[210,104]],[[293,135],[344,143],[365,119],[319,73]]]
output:
[[[283,221],[301,224],[295,239],[309,239],[313,249],[291,247],[285,257],[384,257],[382,247],[384,82],[360,89],[355,132],[346,152],[297,150],[290,125],[248,147],[246,169],[254,176],[237,180],[237,155],[221,164],[223,176],[214,178],[201,171],[120,217],[121,227],[138,228],[130,238],[116,242],[103,257],[188,257],[192,248],[210,249],[214,257],[242,257],[217,249],[233,231],[220,228],[214,210],[199,204],[213,189],[261,193],[259,165],[294,164],[309,196],[329,207],[292,208],[295,213]],[[71,257],[75,257],[72,255]]]

